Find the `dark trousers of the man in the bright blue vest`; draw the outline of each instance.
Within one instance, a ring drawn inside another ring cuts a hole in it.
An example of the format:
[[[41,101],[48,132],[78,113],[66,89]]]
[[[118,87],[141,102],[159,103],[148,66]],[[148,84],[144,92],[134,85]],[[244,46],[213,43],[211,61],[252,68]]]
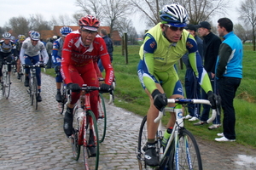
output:
[[[218,91],[221,97],[222,109],[224,111],[224,137],[227,139],[236,139],[236,114],[233,101],[240,83],[241,78],[236,77],[221,77],[218,79]]]

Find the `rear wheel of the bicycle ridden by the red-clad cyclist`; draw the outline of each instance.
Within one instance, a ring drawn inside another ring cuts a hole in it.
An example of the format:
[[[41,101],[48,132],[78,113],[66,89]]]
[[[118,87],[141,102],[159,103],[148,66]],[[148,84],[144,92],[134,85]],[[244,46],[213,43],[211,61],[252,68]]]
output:
[[[73,135],[71,137],[71,147],[73,151],[73,157],[76,161],[78,161],[80,156],[81,145],[79,144],[79,121],[77,105],[73,109]]]

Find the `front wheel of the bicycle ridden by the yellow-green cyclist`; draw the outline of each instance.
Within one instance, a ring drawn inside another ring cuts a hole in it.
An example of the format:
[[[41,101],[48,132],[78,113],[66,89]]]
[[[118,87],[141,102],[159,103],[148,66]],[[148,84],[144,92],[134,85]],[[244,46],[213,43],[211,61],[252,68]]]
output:
[[[195,137],[186,129],[181,129],[177,142],[175,139],[171,145],[169,167],[176,169],[202,170],[201,154]]]

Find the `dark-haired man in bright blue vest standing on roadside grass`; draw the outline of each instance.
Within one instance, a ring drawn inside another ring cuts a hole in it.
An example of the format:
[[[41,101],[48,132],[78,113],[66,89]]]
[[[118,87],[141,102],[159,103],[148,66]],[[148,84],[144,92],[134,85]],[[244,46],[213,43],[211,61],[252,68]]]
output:
[[[216,64],[218,91],[222,98],[221,105],[224,111],[224,132],[218,133],[221,138],[215,140],[218,142],[236,141],[236,115],[233,101],[242,78],[243,49],[241,39],[233,32],[233,23],[230,19],[218,20],[218,34],[224,37]]]

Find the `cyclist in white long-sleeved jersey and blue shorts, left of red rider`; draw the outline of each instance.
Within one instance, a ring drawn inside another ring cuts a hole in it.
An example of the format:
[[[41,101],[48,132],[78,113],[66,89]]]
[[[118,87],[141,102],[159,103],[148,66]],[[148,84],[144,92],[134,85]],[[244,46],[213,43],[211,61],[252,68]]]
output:
[[[38,31],[32,31],[30,38],[26,38],[26,41],[22,43],[20,49],[20,62],[22,65],[36,65],[40,64],[40,53],[43,55],[44,64],[40,65],[45,66],[49,59],[47,51],[44,47],[44,43],[39,41],[40,34]],[[38,80],[38,102],[42,101],[41,93],[41,68],[36,68],[37,80]],[[25,82],[24,85],[28,87],[29,85],[29,68],[25,68]]]

